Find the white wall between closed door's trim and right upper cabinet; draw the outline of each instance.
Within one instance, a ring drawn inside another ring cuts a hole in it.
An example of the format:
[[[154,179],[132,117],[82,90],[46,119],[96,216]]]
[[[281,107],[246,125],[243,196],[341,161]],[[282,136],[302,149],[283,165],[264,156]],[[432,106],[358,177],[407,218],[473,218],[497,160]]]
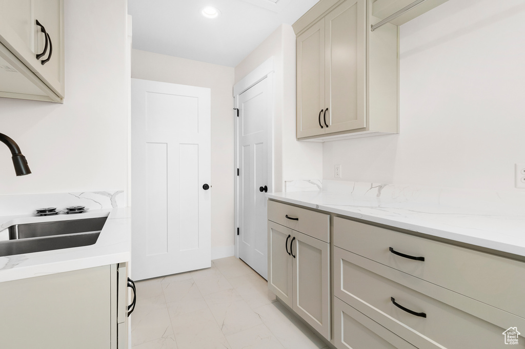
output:
[[[284,181],[320,179],[322,144],[296,140],[296,36],[289,25],[281,25],[235,67],[235,83],[268,58],[275,64],[275,188]]]

